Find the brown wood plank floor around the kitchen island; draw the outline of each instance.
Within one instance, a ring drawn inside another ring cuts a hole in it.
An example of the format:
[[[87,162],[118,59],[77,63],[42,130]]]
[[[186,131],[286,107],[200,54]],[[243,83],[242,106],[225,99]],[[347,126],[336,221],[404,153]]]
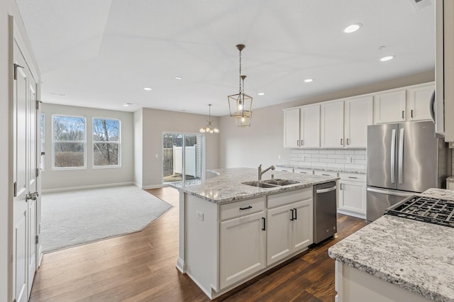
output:
[[[178,192],[169,187],[148,191],[175,208],[141,232],[45,254],[30,301],[209,301],[175,267]],[[338,238],[216,301],[334,301],[328,247],[364,225],[362,219],[338,216]]]

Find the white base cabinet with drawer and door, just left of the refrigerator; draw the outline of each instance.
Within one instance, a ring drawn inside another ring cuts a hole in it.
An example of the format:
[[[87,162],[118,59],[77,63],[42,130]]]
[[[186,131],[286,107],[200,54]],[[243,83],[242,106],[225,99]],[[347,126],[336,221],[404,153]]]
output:
[[[365,218],[366,177],[365,174],[339,173],[338,213]]]

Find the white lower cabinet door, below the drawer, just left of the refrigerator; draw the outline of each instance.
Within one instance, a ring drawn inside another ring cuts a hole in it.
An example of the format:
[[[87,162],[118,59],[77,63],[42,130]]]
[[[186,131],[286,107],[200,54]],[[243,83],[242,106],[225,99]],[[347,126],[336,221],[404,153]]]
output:
[[[339,208],[365,215],[366,185],[361,181],[339,181]]]

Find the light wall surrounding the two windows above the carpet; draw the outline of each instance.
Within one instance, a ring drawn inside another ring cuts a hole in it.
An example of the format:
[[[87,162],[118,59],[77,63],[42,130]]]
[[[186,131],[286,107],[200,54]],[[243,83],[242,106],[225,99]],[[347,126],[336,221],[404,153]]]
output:
[[[133,183],[133,113],[55,104],[43,104],[42,112],[45,113],[45,170],[41,174],[43,191]],[[54,113],[87,118],[86,169],[52,170],[52,114]],[[93,118],[114,118],[121,121],[121,167],[93,168]]]

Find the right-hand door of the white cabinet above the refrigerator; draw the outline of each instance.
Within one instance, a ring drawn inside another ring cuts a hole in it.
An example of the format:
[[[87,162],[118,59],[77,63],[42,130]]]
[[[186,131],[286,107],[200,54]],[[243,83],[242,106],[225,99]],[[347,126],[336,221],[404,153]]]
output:
[[[406,90],[406,121],[430,121],[429,102],[435,85]]]

